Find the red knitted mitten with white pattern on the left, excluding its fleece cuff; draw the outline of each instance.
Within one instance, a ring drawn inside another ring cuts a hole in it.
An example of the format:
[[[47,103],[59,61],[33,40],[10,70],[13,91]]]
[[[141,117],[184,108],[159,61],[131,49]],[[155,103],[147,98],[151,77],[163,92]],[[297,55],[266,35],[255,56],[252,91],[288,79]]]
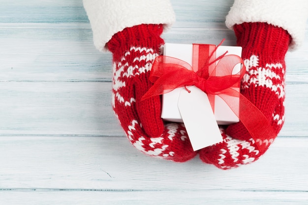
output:
[[[138,25],[116,33],[107,43],[113,53],[113,109],[128,139],[139,150],[177,162],[193,158],[185,127],[160,118],[160,97],[141,101],[153,85],[152,63],[163,44],[162,25]]]

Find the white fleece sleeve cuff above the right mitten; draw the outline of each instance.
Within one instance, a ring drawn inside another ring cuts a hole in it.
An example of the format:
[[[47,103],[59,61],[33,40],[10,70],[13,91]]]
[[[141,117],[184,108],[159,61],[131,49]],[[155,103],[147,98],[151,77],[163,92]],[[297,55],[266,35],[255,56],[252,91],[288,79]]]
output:
[[[308,18],[308,0],[235,0],[226,17],[226,26],[264,22],[288,31],[290,49],[302,44]]]

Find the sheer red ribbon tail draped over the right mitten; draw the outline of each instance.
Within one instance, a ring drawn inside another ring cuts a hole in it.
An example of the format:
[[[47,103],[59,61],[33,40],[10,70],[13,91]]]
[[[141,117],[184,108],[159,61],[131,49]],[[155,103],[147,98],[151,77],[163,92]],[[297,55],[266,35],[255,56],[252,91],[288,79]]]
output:
[[[277,137],[269,120],[242,94],[240,95],[240,119],[259,151],[265,151],[269,141]]]

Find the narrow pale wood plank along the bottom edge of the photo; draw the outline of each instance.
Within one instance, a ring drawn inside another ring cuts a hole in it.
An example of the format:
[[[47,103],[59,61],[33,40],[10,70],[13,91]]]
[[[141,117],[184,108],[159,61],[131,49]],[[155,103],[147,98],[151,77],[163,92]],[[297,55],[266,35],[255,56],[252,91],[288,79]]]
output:
[[[306,192],[5,191],[2,205],[305,205]]]

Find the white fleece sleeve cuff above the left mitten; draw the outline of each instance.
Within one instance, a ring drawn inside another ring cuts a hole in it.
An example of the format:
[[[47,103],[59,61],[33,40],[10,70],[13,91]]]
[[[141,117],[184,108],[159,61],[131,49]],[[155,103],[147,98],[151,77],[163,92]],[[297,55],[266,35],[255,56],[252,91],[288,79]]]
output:
[[[107,51],[111,37],[140,24],[171,26],[175,14],[169,0],[83,0],[93,31],[95,47]]]

